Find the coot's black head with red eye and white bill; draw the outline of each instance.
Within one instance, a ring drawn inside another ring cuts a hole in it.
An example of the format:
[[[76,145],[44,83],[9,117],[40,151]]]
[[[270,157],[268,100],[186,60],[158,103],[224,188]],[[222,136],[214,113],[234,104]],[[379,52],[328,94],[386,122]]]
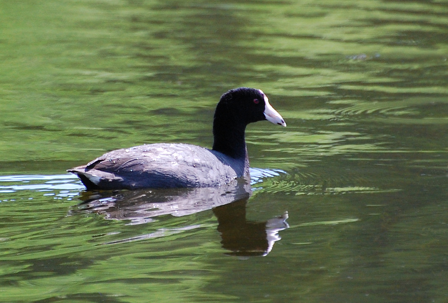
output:
[[[245,126],[263,120],[286,126],[282,116],[269,104],[265,93],[260,89],[248,87],[231,89],[221,96],[216,107],[215,122],[216,120],[226,120],[229,126],[231,124]]]

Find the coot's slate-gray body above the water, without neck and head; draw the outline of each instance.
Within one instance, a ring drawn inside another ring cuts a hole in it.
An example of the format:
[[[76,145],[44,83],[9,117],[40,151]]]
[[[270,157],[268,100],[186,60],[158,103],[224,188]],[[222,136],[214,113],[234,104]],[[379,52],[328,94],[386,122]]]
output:
[[[113,150],[69,172],[92,189],[214,187],[248,176],[245,162],[197,145],[156,143]]]

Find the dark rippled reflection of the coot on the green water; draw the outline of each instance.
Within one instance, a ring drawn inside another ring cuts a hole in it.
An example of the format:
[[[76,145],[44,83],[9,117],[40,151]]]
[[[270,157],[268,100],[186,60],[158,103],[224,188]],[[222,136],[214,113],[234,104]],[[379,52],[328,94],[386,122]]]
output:
[[[274,243],[280,240],[279,231],[288,228],[288,213],[265,222],[246,220],[246,204],[251,196],[250,184],[244,180],[213,188],[142,189],[119,191],[86,191],[83,202],[69,214],[96,213],[110,220],[130,220],[130,224],[154,221],[164,215],[187,216],[212,210],[218,219],[223,248],[228,255],[249,257],[267,256]],[[179,228],[178,232],[188,227]],[[175,233],[159,231],[112,243],[130,242]]]

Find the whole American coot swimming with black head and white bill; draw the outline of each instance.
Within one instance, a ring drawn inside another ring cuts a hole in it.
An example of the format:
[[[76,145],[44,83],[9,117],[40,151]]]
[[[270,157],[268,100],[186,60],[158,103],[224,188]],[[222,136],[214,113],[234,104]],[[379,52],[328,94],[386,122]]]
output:
[[[286,126],[260,89],[240,87],[221,96],[213,120],[213,148],[155,143],[110,151],[68,172],[87,189],[214,187],[249,177],[244,131],[268,120]]]

